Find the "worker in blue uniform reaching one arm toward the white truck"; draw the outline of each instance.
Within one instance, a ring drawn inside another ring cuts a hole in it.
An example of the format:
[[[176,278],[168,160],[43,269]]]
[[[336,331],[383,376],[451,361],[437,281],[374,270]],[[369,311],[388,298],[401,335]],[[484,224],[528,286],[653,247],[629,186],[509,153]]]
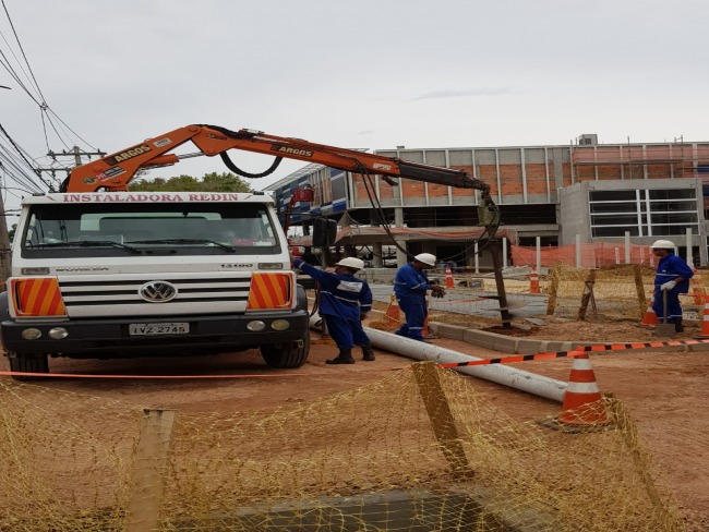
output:
[[[372,290],[365,280],[354,277],[354,274],[364,268],[364,262],[356,257],[343,258],[335,264],[333,273],[315,268],[297,257],[293,267],[320,283],[319,312],[339,349],[335,359],[325,362],[354,364],[354,346],[361,346],[362,360],[373,361],[374,350],[362,327],[362,321],[372,310]]]

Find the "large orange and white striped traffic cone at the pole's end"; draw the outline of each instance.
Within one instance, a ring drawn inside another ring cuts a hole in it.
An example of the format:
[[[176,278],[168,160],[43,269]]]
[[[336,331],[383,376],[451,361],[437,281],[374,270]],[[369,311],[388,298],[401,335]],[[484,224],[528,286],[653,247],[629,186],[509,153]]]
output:
[[[609,422],[603,398],[588,353],[574,356],[568,388],[564,392],[562,413],[556,421],[569,425],[605,425]]]

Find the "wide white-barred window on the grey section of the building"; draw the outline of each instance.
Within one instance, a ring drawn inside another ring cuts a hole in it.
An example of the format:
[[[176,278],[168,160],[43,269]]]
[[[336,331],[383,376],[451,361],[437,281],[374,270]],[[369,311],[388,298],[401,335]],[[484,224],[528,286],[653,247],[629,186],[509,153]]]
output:
[[[699,233],[695,189],[590,191],[589,213],[594,238]]]

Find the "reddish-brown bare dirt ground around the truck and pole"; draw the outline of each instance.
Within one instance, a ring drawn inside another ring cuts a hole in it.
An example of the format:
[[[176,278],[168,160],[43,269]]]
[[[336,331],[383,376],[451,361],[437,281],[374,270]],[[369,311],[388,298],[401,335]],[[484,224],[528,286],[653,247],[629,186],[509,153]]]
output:
[[[498,334],[543,339],[594,342],[662,340],[652,331],[632,322],[576,323],[545,319],[546,325],[503,329],[492,323],[476,323]],[[369,323],[366,324],[369,325]],[[689,324],[675,339],[699,337],[700,324]],[[374,362],[359,360],[354,365],[325,364],[336,348],[315,342],[308,363],[297,371],[267,368],[256,351],[194,359],[143,359],[112,361],[73,361],[52,359],[52,374],[83,375],[51,377],[43,386],[92,396],[121,399],[143,407],[172,408],[178,411],[211,412],[223,410],[268,409],[291,402],[310,402],[359,387],[384,377],[393,370],[411,364],[411,359],[376,350]],[[438,347],[479,358],[505,354],[457,340],[437,338]],[[649,446],[658,470],[670,483],[690,523],[690,530],[709,530],[709,409],[706,408],[709,351],[686,352],[623,350],[592,353],[591,361],[599,388],[623,400]],[[567,380],[570,359],[514,364],[528,372]],[[0,358],[7,371],[7,359]],[[96,375],[123,375],[96,378]],[[146,379],[137,375],[221,375],[224,378]],[[0,376],[0,378],[10,378]],[[474,377],[470,377],[474,378]],[[555,415],[561,404],[527,392],[476,379],[480,392],[514,419],[538,420]]]

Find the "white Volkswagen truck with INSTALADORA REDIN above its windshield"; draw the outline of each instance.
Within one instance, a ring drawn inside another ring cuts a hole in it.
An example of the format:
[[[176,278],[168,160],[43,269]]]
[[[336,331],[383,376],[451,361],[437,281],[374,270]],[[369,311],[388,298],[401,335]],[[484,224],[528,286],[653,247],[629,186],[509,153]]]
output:
[[[264,193],[27,197],[7,287],[0,330],[13,372],[47,373],[50,356],[260,348],[273,367],[308,359],[305,291]]]

